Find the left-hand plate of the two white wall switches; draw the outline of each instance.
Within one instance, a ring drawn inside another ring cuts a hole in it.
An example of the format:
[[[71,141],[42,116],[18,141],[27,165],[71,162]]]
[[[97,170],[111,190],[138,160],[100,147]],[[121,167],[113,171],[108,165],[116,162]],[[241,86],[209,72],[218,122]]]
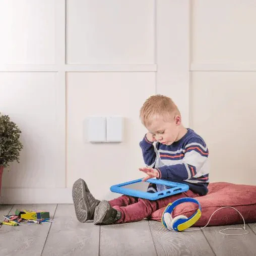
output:
[[[106,142],[106,117],[88,117],[89,142]]]

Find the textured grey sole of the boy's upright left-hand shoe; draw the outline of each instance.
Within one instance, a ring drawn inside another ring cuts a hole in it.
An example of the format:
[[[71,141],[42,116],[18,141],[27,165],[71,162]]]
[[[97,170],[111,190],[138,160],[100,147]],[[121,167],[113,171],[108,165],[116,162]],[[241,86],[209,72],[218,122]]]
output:
[[[75,206],[75,212],[77,219],[80,222],[86,222],[88,220],[88,203],[85,198],[86,186],[82,179],[78,179],[72,188],[72,197]]]

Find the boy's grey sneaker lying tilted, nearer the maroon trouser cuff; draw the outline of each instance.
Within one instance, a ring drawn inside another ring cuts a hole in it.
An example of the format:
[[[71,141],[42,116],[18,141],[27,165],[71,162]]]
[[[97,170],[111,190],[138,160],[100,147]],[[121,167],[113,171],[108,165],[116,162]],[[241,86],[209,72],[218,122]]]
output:
[[[121,213],[112,208],[108,201],[102,200],[95,208],[93,224],[113,224],[120,218]]]

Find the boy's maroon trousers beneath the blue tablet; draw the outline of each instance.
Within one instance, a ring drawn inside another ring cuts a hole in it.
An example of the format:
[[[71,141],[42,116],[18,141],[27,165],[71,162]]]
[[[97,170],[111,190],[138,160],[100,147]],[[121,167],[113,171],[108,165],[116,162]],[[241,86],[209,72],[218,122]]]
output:
[[[199,194],[195,194],[191,190],[155,201],[122,195],[119,198],[110,200],[109,204],[121,213],[121,218],[116,223],[125,223],[150,218],[153,212],[166,207],[177,199],[195,197],[199,197]]]

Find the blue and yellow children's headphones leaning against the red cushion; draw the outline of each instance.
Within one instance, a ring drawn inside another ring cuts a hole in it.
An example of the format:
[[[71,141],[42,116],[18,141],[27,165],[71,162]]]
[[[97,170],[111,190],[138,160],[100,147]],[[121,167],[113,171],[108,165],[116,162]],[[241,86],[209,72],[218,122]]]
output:
[[[172,218],[171,213],[174,210],[174,208],[182,203],[186,202],[192,202],[198,204],[199,208],[198,210],[190,217],[186,217],[184,215],[178,215],[174,218]],[[166,206],[163,215],[162,215],[162,223],[168,230],[174,230],[174,231],[183,231],[192,225],[194,225],[201,217],[201,206],[200,203],[194,199],[194,198],[181,198],[177,199],[173,203],[170,203]]]

